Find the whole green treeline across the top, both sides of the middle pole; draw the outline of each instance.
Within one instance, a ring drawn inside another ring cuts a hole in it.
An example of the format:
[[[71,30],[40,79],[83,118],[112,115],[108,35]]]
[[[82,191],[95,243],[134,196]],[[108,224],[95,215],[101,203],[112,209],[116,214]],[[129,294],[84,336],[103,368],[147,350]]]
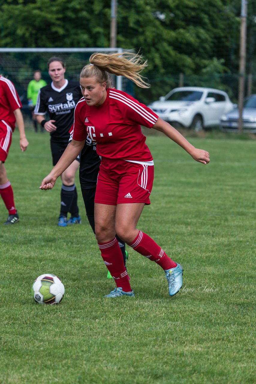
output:
[[[0,5],[1,45],[108,47],[110,6],[111,0],[7,0]],[[117,46],[140,51],[149,63],[144,74],[152,87],[136,87],[136,96],[162,96],[179,73],[199,79],[213,68],[238,71],[237,12],[238,0],[119,0]]]

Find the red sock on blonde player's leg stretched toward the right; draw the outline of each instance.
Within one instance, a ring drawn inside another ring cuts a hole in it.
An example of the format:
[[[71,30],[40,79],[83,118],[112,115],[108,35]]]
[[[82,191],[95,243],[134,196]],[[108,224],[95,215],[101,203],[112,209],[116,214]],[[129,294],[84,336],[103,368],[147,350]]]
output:
[[[135,251],[139,252],[140,255],[154,261],[164,270],[175,268],[175,266],[177,266],[177,263],[168,257],[164,250],[162,250],[162,248],[159,247],[159,245],[157,245],[151,237],[146,235],[146,233],[139,231],[138,236],[129,245]]]

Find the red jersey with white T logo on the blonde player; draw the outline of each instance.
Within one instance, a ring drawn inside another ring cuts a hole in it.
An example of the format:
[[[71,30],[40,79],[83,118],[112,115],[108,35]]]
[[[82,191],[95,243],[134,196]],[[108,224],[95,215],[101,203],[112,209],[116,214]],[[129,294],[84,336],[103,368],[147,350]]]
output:
[[[157,114],[132,96],[109,88],[101,106],[88,106],[84,98],[78,101],[73,139],[82,141],[89,135],[97,143],[97,154],[109,159],[151,161],[140,126],[151,128],[157,119]]]

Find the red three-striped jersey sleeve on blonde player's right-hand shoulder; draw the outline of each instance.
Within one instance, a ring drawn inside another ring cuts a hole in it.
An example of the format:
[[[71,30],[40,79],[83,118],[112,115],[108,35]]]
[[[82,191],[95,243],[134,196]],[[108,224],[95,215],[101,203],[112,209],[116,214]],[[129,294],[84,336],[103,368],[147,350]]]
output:
[[[131,123],[143,125],[147,128],[152,128],[158,119],[156,113],[145,106],[145,104],[139,103],[139,101],[127,93],[110,89],[109,98],[119,101],[118,104],[122,116],[124,116],[127,122],[129,121]]]

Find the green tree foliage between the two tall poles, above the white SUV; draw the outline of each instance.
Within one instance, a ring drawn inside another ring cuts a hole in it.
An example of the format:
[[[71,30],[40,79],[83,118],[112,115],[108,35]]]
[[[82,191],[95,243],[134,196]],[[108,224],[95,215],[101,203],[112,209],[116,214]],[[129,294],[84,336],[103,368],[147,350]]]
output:
[[[142,47],[149,59],[145,71],[153,84],[151,92],[147,91],[149,99],[177,85],[179,73],[200,76],[216,60],[221,60],[220,73],[228,72],[234,39],[239,43],[239,19],[230,1],[124,0],[118,18],[119,45]]]

